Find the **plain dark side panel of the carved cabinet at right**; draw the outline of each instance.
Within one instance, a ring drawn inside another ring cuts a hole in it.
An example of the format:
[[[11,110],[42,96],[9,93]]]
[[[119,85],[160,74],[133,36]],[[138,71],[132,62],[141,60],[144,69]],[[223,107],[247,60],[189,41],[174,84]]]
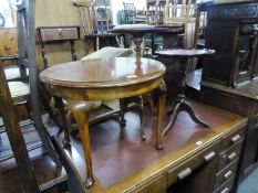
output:
[[[238,21],[209,20],[206,47],[216,54],[204,58],[203,79],[231,86],[237,54]]]

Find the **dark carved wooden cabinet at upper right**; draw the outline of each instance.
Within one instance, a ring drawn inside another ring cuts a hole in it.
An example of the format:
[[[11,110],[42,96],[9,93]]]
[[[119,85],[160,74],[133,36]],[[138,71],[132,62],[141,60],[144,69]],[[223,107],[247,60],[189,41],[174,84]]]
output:
[[[217,53],[205,58],[203,81],[236,87],[257,76],[257,6],[208,7],[206,47]]]

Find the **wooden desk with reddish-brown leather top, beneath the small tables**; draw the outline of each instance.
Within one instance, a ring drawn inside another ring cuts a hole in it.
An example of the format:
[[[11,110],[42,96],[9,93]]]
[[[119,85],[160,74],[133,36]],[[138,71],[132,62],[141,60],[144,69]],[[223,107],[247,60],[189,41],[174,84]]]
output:
[[[182,112],[174,128],[164,137],[165,148],[162,151],[156,151],[152,146],[155,143],[153,125],[156,122],[156,116],[149,115],[147,110],[144,114],[147,137],[145,142],[141,141],[141,121],[134,111],[125,115],[127,124],[124,128],[115,120],[92,126],[90,135],[95,184],[90,190],[83,187],[85,168],[79,135],[72,135],[71,149],[62,148],[62,136],[56,138],[63,163],[71,170],[80,169],[73,178],[75,182],[72,192],[166,193],[169,192],[167,187],[173,185],[173,189],[177,189],[174,191],[176,193],[183,193],[184,187],[186,189],[184,193],[189,193],[189,190],[193,190],[190,193],[211,193],[223,189],[223,184],[231,190],[234,184],[228,182],[231,182],[238,173],[231,165],[236,167],[239,163],[239,150],[245,138],[247,119],[210,106],[197,103],[192,105],[200,118],[210,124],[210,129],[199,127],[189,116]],[[168,118],[165,116],[166,122]],[[224,162],[234,152],[236,153],[234,160]],[[207,157],[209,159],[206,163]],[[182,174],[182,171],[188,168],[192,174],[179,180],[177,174]],[[234,175],[229,181],[226,179],[221,181],[221,174],[230,170]],[[178,190],[178,184],[184,187]],[[78,190],[79,187],[81,190]]]

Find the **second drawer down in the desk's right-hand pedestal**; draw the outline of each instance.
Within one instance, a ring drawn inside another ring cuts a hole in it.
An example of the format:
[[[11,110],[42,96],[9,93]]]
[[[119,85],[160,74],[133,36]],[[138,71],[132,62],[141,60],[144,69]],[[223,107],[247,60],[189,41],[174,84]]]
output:
[[[237,160],[241,153],[242,139],[219,154],[218,171]]]

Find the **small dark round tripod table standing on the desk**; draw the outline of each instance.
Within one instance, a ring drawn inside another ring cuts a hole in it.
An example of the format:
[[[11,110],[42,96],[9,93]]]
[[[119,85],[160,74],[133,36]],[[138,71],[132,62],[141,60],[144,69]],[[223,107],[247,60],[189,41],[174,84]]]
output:
[[[199,124],[199,125],[204,126],[205,128],[209,128],[209,125],[207,122],[205,122],[204,120],[202,120],[198,116],[196,116],[190,104],[188,104],[185,100],[186,99],[186,97],[185,97],[185,87],[186,87],[185,77],[186,77],[187,69],[188,69],[189,58],[203,57],[203,56],[207,56],[207,55],[210,55],[214,53],[215,53],[214,50],[206,50],[206,49],[203,49],[203,50],[175,49],[175,50],[163,50],[163,51],[156,52],[156,54],[161,55],[161,56],[173,57],[173,58],[177,57],[180,60],[179,93],[177,95],[176,101],[173,105],[172,110],[168,111],[168,114],[172,114],[172,117],[169,119],[169,122],[164,128],[162,136],[166,136],[167,132],[173,128],[173,125],[175,124],[176,118],[180,111],[188,112],[190,118],[196,124]]]

